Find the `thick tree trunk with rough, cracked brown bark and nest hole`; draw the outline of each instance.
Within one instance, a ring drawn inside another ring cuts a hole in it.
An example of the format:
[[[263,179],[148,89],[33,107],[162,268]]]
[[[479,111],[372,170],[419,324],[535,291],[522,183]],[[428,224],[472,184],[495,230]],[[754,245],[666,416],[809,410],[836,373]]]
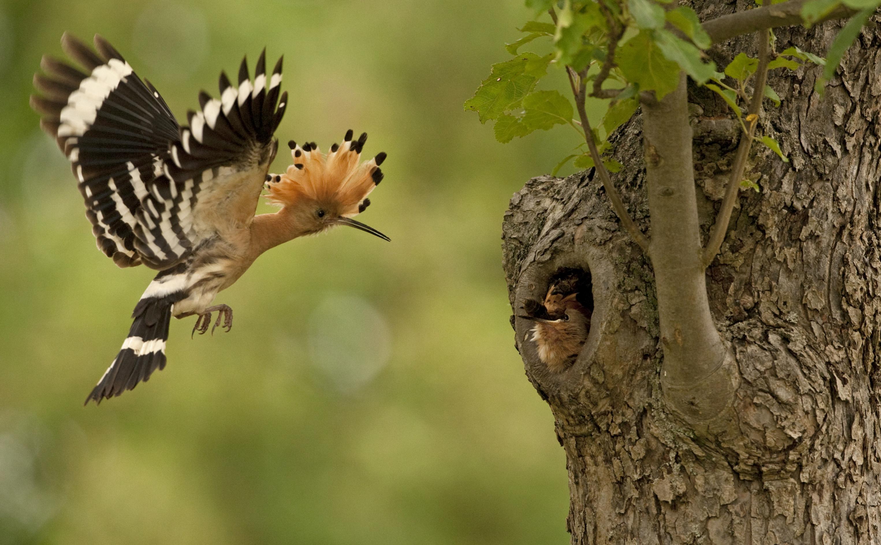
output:
[[[754,4],[693,5],[707,20]],[[776,49],[822,55],[842,24],[779,28]],[[573,543],[881,542],[879,45],[881,32],[864,28],[823,99],[813,92],[817,69],[769,74],[783,104],[766,101],[760,130],[791,162],[753,146],[747,175],[761,192],[742,192],[707,269],[729,354],[719,365],[731,366],[736,388],[710,417],[667,399],[670,388],[709,386],[687,372],[662,377],[662,343],[671,340],[659,328],[655,270],[599,180],[538,177],[512,198],[503,250],[514,313],[540,300],[560,269],[581,268],[592,283],[589,337],[562,373],[546,370],[531,324],[512,317],[527,376],[566,452]],[[739,51],[756,56],[754,37],[710,55],[723,65]],[[698,218],[677,220],[698,221],[704,242],[739,128],[713,93],[689,85],[688,102]],[[614,177],[651,235],[644,115],[613,138],[625,166]]]

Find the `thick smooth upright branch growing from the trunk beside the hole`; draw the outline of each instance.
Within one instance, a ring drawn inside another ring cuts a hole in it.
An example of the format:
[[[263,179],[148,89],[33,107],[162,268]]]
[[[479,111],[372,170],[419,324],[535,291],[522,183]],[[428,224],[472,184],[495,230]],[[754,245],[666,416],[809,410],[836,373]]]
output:
[[[642,123],[664,399],[690,422],[703,421],[728,407],[739,377],[708,302],[685,72],[675,91],[642,103]]]

